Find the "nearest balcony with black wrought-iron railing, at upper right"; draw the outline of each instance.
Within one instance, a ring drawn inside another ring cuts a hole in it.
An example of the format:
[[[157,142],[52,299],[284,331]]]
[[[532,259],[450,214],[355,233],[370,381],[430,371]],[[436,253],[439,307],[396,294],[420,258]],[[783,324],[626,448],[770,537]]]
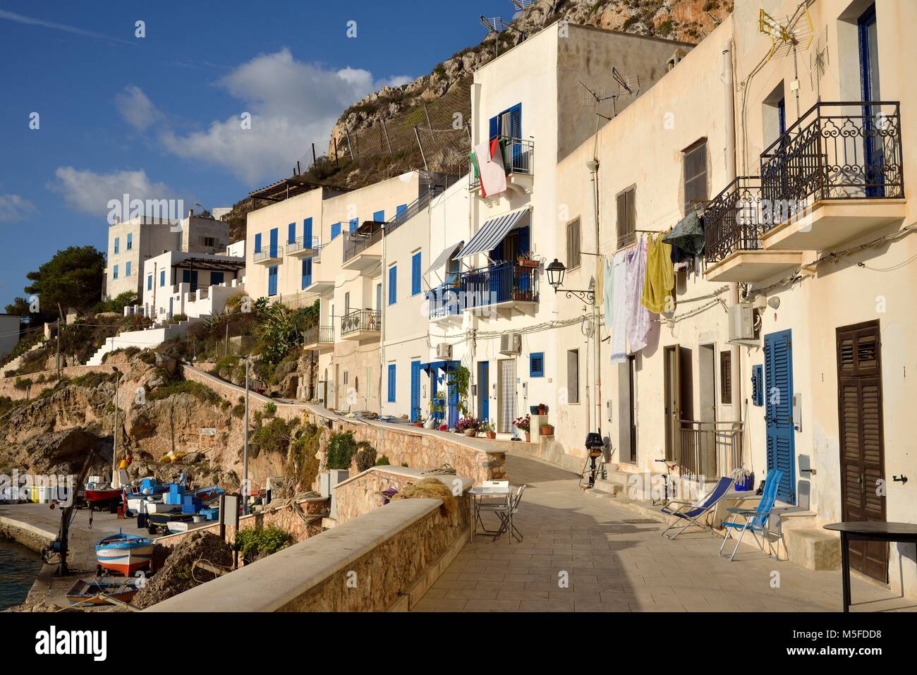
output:
[[[899,109],[816,104],[761,154],[765,249],[833,249],[903,220]]]

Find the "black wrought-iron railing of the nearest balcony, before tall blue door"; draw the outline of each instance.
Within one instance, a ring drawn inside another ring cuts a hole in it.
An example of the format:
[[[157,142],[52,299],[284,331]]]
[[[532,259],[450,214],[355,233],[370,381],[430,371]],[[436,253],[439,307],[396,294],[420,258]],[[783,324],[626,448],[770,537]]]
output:
[[[771,208],[810,199],[904,196],[900,104],[818,103],[761,153],[761,197]],[[779,223],[768,219],[766,228]]]

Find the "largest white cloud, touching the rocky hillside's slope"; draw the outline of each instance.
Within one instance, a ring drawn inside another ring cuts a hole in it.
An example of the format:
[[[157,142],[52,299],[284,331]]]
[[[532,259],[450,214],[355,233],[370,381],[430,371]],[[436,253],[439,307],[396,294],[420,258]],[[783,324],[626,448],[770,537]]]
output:
[[[349,105],[382,84],[410,79],[380,83],[366,70],[334,71],[296,61],[284,48],[243,63],[217,83],[240,102],[237,115],[186,135],[166,131],[161,141],[179,157],[223,166],[246,183],[270,183],[311,155],[312,143],[326,152],[331,127]],[[250,128],[241,124],[243,113],[251,117]]]

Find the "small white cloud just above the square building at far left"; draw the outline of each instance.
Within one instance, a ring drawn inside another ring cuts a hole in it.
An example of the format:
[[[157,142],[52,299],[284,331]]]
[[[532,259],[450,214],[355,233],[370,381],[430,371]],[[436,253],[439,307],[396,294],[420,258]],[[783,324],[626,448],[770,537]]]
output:
[[[137,172],[96,173],[61,166],[54,173],[57,181],[49,183],[50,189],[61,193],[64,201],[72,208],[96,216],[108,213],[108,201],[121,201],[124,194],[128,194],[132,200],[182,199],[185,196],[177,194],[166,183],[149,180],[147,172],[142,169]]]

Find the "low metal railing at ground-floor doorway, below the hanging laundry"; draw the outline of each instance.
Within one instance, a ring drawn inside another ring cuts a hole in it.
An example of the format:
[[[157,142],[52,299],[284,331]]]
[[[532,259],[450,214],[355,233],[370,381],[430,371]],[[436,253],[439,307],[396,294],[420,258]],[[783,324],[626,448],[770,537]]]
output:
[[[682,476],[715,480],[742,466],[741,422],[679,419],[676,461]]]

